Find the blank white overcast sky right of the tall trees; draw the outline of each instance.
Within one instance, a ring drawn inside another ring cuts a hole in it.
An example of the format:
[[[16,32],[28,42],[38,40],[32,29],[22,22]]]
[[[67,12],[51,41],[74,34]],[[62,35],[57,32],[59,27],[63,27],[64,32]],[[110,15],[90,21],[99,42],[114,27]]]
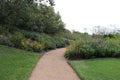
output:
[[[66,28],[90,33],[94,26],[120,26],[120,0],[54,0]]]

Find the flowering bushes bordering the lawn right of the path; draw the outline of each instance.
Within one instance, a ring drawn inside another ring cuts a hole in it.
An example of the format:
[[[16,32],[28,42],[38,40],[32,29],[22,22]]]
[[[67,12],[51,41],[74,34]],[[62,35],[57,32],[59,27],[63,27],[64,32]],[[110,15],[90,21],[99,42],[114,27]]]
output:
[[[68,59],[120,57],[120,42],[117,39],[89,39],[73,42],[66,51]]]

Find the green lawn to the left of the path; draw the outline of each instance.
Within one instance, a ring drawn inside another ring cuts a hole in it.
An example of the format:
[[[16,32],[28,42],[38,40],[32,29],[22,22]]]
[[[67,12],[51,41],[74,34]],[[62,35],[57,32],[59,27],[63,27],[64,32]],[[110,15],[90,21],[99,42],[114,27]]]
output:
[[[0,80],[28,80],[40,54],[0,45]]]

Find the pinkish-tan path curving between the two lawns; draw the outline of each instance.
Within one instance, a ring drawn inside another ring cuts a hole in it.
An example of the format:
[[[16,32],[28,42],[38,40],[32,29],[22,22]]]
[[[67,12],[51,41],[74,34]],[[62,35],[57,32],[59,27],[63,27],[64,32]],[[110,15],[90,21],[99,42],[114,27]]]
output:
[[[29,80],[80,80],[64,58],[65,48],[47,52],[38,62]]]

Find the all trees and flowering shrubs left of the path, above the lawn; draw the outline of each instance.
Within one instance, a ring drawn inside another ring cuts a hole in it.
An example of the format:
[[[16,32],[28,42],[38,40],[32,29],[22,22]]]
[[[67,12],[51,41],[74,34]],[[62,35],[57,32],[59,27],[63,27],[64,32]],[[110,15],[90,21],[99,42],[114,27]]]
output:
[[[54,11],[54,1],[48,3],[51,6],[36,6],[33,0],[1,0],[0,44],[35,52],[68,45],[65,37],[56,36],[66,29]]]

